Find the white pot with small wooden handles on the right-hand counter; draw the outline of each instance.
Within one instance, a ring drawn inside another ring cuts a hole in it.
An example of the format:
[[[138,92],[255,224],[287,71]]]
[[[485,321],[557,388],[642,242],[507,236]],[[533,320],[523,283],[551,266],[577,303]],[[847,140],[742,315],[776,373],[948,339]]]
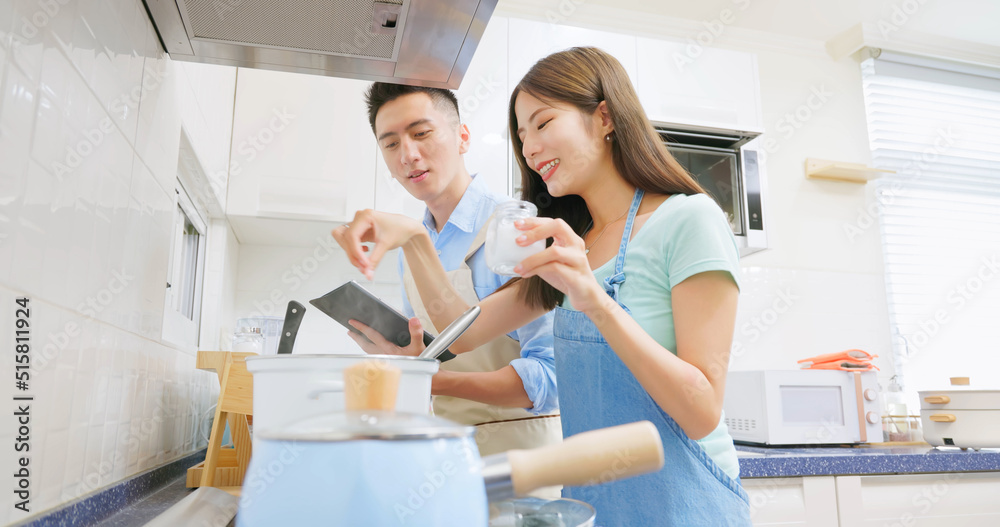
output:
[[[924,441],[977,450],[1000,448],[1000,390],[953,386],[917,393]]]

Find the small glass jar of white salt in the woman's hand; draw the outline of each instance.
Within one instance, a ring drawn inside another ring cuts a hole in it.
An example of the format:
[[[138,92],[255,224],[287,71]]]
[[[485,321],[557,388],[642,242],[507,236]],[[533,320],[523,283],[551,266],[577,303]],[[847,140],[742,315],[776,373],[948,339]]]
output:
[[[514,226],[517,220],[534,218],[538,208],[527,201],[506,201],[497,205],[486,230],[486,266],[496,274],[516,275],[514,267],[521,260],[545,249],[545,240],[527,246],[515,241],[524,231]]]

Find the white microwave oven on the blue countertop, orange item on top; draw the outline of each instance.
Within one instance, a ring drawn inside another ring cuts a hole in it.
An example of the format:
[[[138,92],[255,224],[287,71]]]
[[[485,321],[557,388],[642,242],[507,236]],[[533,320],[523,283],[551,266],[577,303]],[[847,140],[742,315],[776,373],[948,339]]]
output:
[[[723,403],[733,440],[824,445],[882,440],[875,372],[731,371]]]

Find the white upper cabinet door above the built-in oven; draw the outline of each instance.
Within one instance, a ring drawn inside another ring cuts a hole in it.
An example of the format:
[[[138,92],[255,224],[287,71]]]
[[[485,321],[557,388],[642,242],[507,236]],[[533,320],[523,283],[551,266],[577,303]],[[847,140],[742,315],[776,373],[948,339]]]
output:
[[[752,53],[637,39],[639,100],[652,121],[762,131]]]

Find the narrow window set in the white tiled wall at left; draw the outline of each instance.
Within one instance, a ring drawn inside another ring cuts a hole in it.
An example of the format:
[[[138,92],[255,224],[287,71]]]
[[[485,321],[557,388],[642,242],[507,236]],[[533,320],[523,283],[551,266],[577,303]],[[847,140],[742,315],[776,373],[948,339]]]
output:
[[[201,323],[206,226],[184,187],[177,187],[177,208],[171,236],[163,338],[184,347],[196,347]]]

